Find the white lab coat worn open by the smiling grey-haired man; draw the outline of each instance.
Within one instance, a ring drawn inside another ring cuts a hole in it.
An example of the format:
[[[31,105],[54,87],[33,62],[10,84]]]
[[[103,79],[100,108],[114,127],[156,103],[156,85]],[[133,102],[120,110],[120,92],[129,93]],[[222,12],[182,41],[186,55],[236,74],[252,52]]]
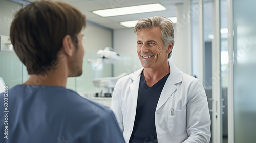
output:
[[[174,64],[169,62],[169,65],[170,76],[155,111],[158,143],[209,142],[210,115],[202,84]],[[142,70],[119,79],[113,92],[111,109],[125,142],[129,142],[133,131]]]

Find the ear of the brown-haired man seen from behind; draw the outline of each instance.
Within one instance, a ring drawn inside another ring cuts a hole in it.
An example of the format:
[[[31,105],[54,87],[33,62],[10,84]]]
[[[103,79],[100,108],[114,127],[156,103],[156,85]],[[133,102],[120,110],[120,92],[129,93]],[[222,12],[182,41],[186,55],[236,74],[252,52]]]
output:
[[[70,35],[64,36],[62,40],[62,51],[66,56],[72,56],[75,50],[75,46],[72,42]]]

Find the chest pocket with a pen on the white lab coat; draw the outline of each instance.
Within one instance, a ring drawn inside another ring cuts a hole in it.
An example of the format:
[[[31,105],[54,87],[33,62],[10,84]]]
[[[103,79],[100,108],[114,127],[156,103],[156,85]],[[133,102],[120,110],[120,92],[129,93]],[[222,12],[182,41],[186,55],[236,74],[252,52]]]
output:
[[[186,131],[186,109],[169,112],[169,132],[178,135]]]

